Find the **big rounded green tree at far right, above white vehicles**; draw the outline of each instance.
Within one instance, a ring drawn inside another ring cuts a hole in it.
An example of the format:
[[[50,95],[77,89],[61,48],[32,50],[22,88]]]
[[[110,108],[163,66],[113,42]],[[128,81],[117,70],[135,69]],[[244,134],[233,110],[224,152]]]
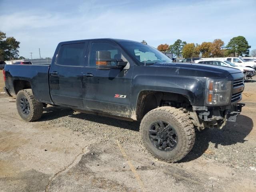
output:
[[[229,53],[234,54],[234,56],[236,53],[238,56],[248,56],[249,48],[251,48],[251,46],[248,45],[246,38],[243,36],[237,36],[228,42],[226,48],[228,48]]]

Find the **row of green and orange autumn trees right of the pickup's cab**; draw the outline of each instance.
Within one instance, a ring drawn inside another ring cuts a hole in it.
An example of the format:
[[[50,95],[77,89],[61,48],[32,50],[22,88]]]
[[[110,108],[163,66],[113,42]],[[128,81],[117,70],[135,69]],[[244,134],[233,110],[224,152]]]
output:
[[[246,38],[237,36],[224,46],[221,39],[215,39],[213,42],[202,42],[202,44],[187,43],[180,39],[174,44],[160,44],[157,49],[162,52],[171,52],[176,58],[192,57],[227,57],[227,56],[249,56],[249,46]],[[256,56],[256,50],[251,51],[251,56]]]

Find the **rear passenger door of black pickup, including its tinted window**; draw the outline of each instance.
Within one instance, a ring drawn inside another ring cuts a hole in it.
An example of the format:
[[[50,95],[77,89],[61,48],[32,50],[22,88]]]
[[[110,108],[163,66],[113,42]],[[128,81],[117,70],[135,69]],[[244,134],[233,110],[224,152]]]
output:
[[[83,107],[82,69],[88,42],[62,44],[51,65],[50,95],[54,104]]]

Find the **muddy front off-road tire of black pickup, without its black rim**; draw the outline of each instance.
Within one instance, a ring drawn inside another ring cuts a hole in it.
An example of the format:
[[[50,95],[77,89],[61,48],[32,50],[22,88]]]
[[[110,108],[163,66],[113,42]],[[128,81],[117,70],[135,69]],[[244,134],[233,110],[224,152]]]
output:
[[[162,151],[150,141],[148,130],[157,120],[168,122],[176,131],[178,140],[171,151]],[[140,123],[140,134],[148,151],[156,158],[165,162],[177,162],[184,158],[192,149],[195,142],[195,130],[186,114],[174,107],[159,107],[148,112]]]

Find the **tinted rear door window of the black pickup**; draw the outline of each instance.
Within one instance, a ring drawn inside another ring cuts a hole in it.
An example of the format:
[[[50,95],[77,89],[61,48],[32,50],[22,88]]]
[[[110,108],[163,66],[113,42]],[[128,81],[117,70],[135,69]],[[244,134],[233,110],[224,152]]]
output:
[[[65,44],[60,47],[57,64],[67,66],[82,66],[85,43]]]

